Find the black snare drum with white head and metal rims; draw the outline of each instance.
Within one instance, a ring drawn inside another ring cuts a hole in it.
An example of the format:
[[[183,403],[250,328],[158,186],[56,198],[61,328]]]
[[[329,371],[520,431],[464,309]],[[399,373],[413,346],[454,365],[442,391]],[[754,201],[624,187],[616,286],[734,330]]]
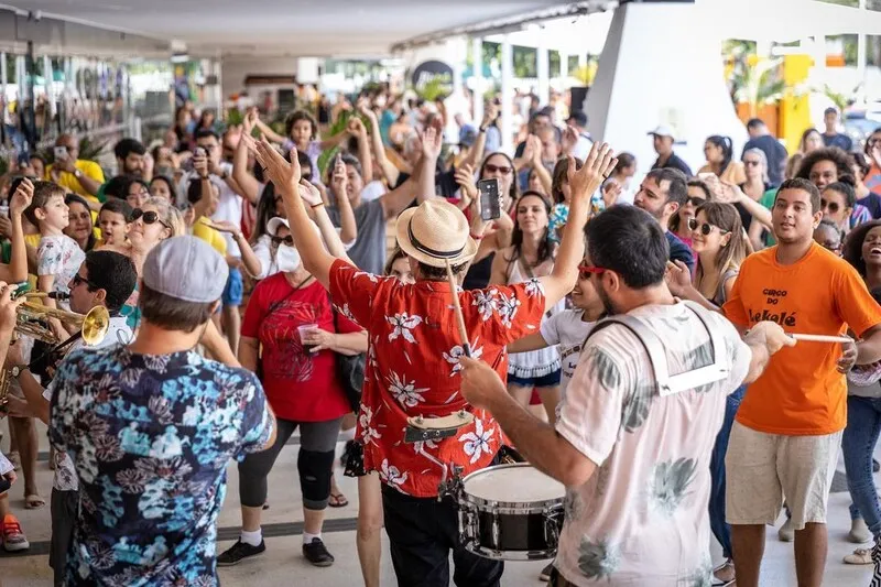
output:
[[[499,465],[461,480],[459,534],[486,558],[553,558],[563,526],[566,489],[527,463]]]

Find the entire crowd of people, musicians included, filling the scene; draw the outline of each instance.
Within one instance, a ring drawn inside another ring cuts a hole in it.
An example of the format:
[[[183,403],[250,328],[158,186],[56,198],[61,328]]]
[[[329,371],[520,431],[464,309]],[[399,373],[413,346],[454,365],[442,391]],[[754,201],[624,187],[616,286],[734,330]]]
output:
[[[113,176],[65,134],[52,164],[6,178],[0,475],[45,507],[46,423],[55,584],[216,584],[265,551],[269,474],[297,430],[303,556],[335,562],[322,530],[348,504],[344,439],[368,587],[383,528],[401,586],[499,585],[503,563],[466,548],[438,487],[505,444],[567,489],[551,585],[758,587],[785,511],[798,585],[819,586],[839,447],[866,544],[845,563],[881,581],[881,128],[853,151],[830,109],[790,154],[754,119],[740,156],[708,137],[693,174],[660,126],[638,174],[579,111],[536,105],[505,153],[497,101],[457,115],[453,141],[443,108],[410,106],[365,93],[283,132],[254,108],[228,128],[182,108],[149,149],[120,140]],[[104,339],[54,315],[36,322],[74,337],[63,357],[17,336],[29,282],[48,308],[105,308]],[[410,417],[459,411],[455,435],[404,442]],[[241,532],[217,553],[232,458]],[[9,492],[3,547],[23,551]]]

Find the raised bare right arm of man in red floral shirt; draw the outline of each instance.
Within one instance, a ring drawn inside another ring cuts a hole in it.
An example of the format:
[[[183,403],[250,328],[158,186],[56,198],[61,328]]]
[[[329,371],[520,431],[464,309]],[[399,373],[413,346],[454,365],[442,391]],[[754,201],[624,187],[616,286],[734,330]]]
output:
[[[590,196],[614,169],[618,160],[609,145],[594,143],[584,166],[575,171],[575,160],[569,157],[568,178],[572,188],[569,219],[563,230],[563,242],[557,251],[550,275],[540,278],[544,285],[545,309],[551,309],[572,291],[578,279],[578,263],[585,256],[584,228],[590,214]]]

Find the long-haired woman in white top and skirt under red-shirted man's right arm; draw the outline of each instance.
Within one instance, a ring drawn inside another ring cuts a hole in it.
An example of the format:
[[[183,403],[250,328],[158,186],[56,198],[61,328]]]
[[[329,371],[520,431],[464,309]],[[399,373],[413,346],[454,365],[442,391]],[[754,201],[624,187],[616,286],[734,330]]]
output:
[[[520,197],[511,246],[492,260],[490,284],[523,283],[551,274],[556,246],[548,229],[550,215],[551,205],[542,194],[526,192]],[[561,300],[548,317],[563,307]],[[556,347],[513,355],[508,363],[508,391],[525,406],[535,390],[552,424],[559,403],[561,365]]]

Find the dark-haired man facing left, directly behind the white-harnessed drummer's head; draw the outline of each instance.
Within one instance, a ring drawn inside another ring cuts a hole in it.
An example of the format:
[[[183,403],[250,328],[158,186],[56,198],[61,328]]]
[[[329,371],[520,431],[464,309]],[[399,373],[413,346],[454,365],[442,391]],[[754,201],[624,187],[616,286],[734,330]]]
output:
[[[670,260],[682,261],[695,271],[695,256],[688,246],[667,230],[670,219],[688,199],[688,180],[679,170],[661,167],[650,171],[633,197],[633,205],[652,215],[661,225],[670,247]]]

